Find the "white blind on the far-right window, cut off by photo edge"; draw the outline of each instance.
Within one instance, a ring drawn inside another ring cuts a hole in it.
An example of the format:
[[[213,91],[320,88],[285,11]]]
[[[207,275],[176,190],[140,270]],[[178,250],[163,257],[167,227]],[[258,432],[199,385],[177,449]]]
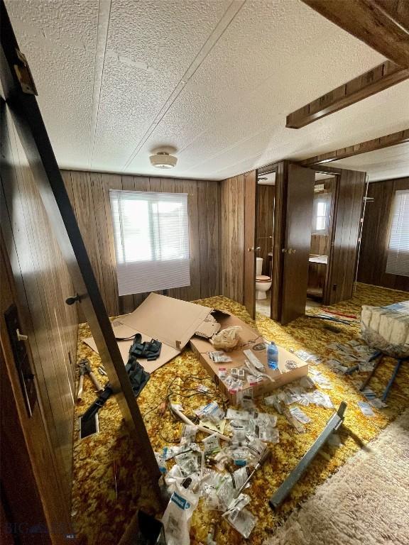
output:
[[[386,272],[409,276],[409,189],[395,192]]]

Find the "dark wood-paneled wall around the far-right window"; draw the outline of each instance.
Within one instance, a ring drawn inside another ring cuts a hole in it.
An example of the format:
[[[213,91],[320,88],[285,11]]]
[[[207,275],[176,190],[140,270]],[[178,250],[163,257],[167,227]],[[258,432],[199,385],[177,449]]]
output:
[[[364,229],[359,255],[358,280],[366,284],[409,292],[409,277],[389,275],[386,271],[393,196],[398,189],[409,189],[409,177],[372,182],[368,187]]]

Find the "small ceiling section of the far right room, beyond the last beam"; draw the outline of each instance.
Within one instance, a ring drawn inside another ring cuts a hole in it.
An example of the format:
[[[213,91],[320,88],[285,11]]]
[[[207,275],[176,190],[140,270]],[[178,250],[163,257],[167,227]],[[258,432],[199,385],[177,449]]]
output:
[[[369,151],[347,159],[334,161],[331,166],[364,170],[369,182],[409,177],[409,142],[393,145],[383,150]]]

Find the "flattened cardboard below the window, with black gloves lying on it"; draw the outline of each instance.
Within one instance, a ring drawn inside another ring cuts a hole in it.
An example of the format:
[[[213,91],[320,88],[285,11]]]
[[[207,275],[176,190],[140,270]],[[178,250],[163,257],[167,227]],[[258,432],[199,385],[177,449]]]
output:
[[[111,325],[124,363],[128,361],[129,348],[137,333],[142,335],[142,342],[156,338],[162,343],[157,360],[138,359],[148,373],[153,373],[178,356],[193,335],[210,338],[219,331],[219,323],[212,313],[214,309],[200,304],[151,293],[136,310],[119,316]],[[98,353],[93,337],[83,338],[82,341]]]

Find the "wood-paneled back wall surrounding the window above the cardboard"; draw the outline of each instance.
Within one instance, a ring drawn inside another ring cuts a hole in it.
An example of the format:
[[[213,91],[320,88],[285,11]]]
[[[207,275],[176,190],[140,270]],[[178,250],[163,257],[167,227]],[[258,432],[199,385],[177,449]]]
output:
[[[219,295],[218,182],[74,170],[62,170],[62,177],[109,316],[131,312],[148,295],[118,295],[109,189],[187,193],[191,285],[168,295],[185,301]]]

